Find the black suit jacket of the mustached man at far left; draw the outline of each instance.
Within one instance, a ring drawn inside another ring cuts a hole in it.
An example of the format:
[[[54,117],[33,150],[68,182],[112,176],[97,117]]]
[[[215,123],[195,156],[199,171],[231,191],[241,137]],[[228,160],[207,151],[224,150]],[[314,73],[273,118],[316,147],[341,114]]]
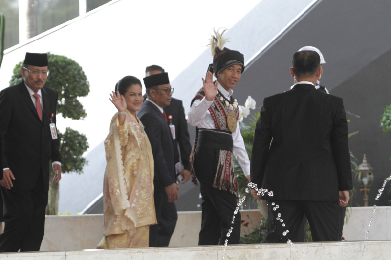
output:
[[[61,162],[60,140],[53,140],[49,129],[51,113],[56,123],[58,95],[46,87],[41,91],[43,121],[23,81],[0,92],[2,167],[12,171],[14,189],[32,190],[42,172],[43,187],[47,191],[50,160]],[[2,179],[3,171],[0,172]]]

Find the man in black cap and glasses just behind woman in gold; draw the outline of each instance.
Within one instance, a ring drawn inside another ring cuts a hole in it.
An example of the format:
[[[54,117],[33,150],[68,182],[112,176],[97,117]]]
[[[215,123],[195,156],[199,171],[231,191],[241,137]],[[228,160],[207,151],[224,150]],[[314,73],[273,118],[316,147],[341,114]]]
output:
[[[178,200],[179,187],[175,179],[174,141],[167,124],[163,107],[171,102],[173,89],[167,73],[144,78],[147,99],[138,112],[151,142],[154,160],[154,202],[157,225],[150,226],[149,246],[168,246],[178,215],[174,202]],[[165,228],[160,223],[166,222]]]

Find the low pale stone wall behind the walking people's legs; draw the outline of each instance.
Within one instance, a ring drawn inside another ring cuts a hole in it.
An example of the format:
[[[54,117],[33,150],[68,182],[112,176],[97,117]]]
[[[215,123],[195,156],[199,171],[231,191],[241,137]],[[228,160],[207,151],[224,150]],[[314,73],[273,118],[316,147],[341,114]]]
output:
[[[391,240],[391,207],[377,207],[375,214],[371,207],[351,209],[348,223],[344,225],[343,236],[348,241]],[[257,225],[261,220],[258,210],[241,211],[245,222]],[[250,218],[247,217],[249,215]],[[366,233],[369,220],[373,222]],[[66,251],[94,249],[102,239],[102,214],[46,216],[45,236],[41,251]],[[251,224],[250,224],[251,226]],[[178,222],[170,241],[170,247],[197,246],[201,227],[201,212],[178,212]],[[252,231],[241,228],[241,236]]]

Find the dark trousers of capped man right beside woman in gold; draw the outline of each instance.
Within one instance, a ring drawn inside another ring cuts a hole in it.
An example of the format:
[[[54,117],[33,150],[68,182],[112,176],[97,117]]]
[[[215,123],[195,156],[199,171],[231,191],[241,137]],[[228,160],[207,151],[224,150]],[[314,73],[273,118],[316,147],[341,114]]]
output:
[[[149,247],[168,246],[174,233],[178,213],[175,203],[168,202],[165,191],[154,192],[157,224],[150,226]]]

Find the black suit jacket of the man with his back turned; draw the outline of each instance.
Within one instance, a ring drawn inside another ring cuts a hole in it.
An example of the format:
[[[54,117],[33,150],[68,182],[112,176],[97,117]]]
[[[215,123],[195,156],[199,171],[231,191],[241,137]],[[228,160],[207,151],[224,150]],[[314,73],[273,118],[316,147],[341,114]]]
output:
[[[352,189],[343,100],[309,84],[265,98],[251,179],[272,190],[273,200],[331,201],[339,190]]]

